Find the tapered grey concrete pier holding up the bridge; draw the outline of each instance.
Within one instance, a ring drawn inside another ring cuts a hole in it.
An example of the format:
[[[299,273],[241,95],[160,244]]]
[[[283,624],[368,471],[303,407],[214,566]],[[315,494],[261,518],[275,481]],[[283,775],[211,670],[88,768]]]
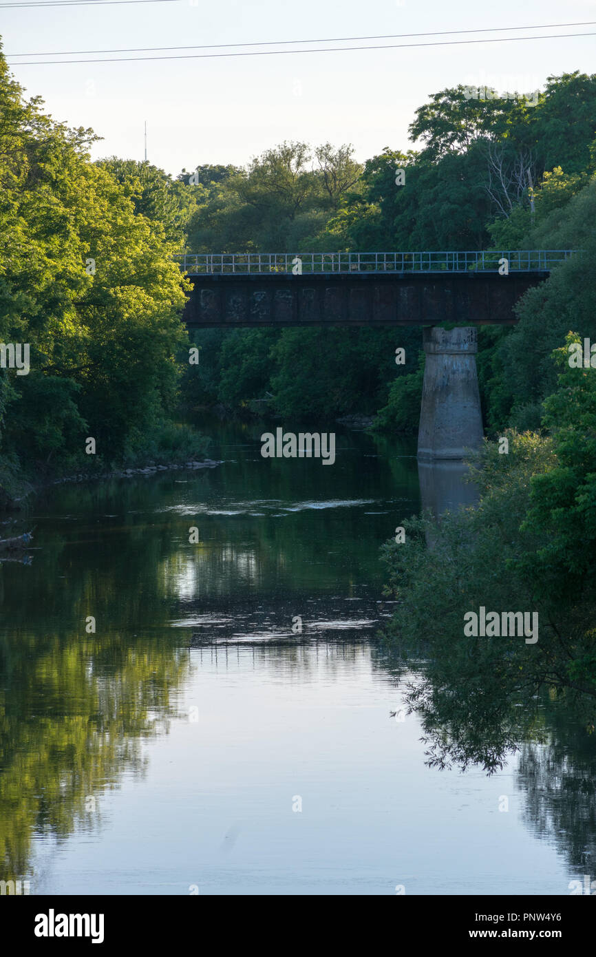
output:
[[[463,458],[482,443],[475,326],[427,327],[424,350],[418,458]]]

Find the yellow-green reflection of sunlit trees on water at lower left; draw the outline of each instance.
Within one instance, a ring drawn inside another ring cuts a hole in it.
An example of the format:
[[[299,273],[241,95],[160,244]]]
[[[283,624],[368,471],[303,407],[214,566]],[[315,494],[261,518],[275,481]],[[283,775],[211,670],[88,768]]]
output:
[[[0,656],[0,879],[33,878],[33,835],[97,826],[99,794],[143,774],[140,742],[166,732],[188,660],[146,639],[48,629],[4,636]]]

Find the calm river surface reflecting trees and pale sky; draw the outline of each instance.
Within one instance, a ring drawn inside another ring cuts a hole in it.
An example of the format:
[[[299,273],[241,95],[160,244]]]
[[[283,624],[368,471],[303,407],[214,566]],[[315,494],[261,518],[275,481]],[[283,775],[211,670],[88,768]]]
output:
[[[487,777],[427,767],[416,717],[389,718],[415,674],[375,637],[379,546],[420,509],[415,449],[338,431],[329,467],[263,459],[260,431],[219,427],[216,469],[33,502],[32,565],[0,566],[2,878],[567,894],[595,846],[572,728]]]

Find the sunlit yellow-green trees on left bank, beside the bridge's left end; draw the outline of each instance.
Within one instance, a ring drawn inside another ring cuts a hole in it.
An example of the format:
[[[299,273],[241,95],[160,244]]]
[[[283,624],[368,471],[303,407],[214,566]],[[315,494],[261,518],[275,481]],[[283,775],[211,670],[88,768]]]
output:
[[[25,100],[0,58],[0,339],[31,350],[29,374],[1,377],[2,450],[36,478],[143,457],[177,404],[182,188],[92,164],[94,139]]]

